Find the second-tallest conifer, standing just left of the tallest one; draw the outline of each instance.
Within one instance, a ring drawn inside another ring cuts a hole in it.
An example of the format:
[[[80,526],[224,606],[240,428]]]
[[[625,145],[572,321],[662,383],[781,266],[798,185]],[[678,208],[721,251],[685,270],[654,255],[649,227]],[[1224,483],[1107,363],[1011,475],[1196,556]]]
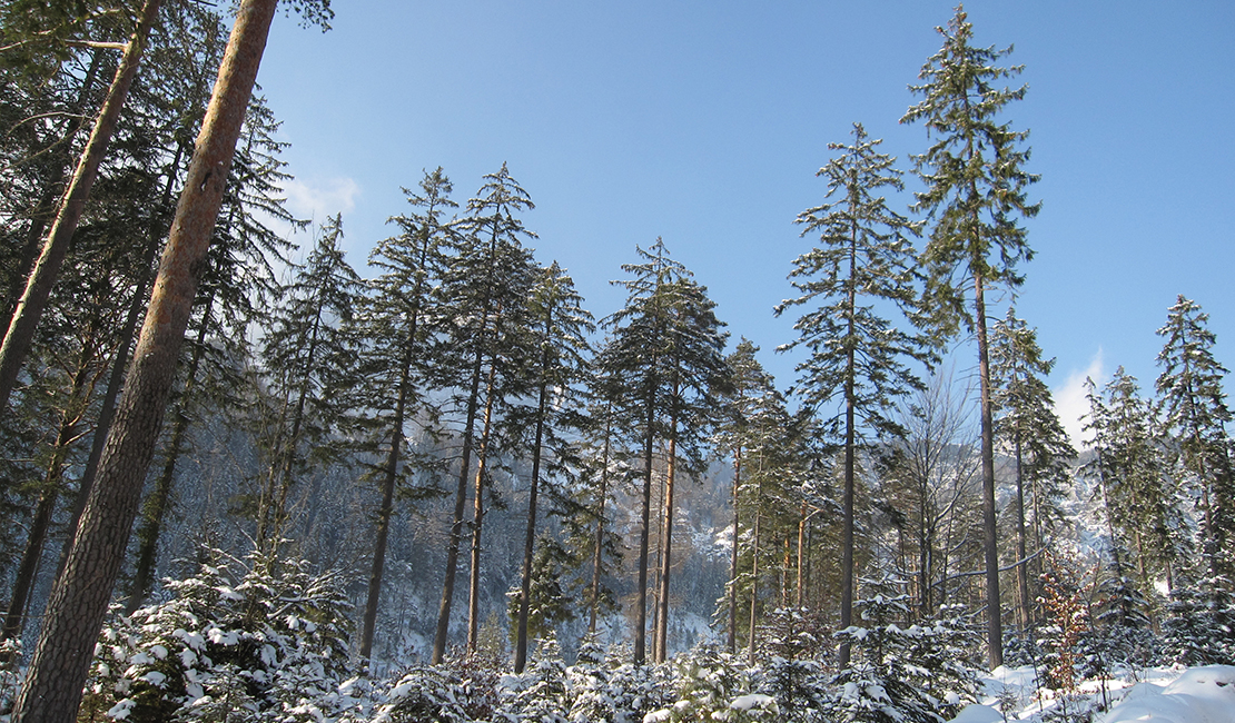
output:
[[[867,138],[853,125],[853,144],[830,143],[840,154],[819,170],[827,179],[831,202],[798,216],[806,233],[819,233],[819,246],[794,260],[789,274],[802,296],[777,307],[811,306],[794,329],[810,359],[798,365],[800,385],[811,407],[837,407],[831,423],[845,438],[845,522],[841,543],[841,628],[853,614],[853,489],[858,448],[873,436],[892,431],[888,416],[897,397],[921,387],[906,366],[934,360],[931,342],[897,328],[879,316],[878,304],[890,302],[910,327],[923,323],[919,312],[915,253],[908,236],[916,225],[889,210],[882,189],[900,190],[894,158],[878,153],[881,141]],[[841,649],[841,664],[848,649]]]

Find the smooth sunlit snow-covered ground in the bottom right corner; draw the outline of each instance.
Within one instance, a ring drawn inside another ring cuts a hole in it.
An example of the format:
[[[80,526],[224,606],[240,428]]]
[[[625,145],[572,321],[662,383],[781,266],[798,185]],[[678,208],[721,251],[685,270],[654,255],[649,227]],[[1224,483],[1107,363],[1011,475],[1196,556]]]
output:
[[[1230,665],[1126,672],[1087,681],[1082,695],[1070,700],[1039,696],[1032,667],[998,667],[984,682],[983,703],[963,709],[952,723],[1040,723],[1060,716],[1065,706],[1077,712],[1103,707],[1107,712],[1094,716],[1095,723],[1235,723],[1235,666]]]

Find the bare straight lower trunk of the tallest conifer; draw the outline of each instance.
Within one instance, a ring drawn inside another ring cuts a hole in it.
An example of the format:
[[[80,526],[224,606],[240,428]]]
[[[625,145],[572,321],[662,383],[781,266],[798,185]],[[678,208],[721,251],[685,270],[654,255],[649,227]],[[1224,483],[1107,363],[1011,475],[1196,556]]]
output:
[[[982,276],[973,275],[973,321],[978,332],[978,378],[982,382],[982,548],[987,560],[987,663],[1003,665],[1003,621],[999,608],[999,548],[995,529],[994,422],[990,408],[990,362],[987,304]]]

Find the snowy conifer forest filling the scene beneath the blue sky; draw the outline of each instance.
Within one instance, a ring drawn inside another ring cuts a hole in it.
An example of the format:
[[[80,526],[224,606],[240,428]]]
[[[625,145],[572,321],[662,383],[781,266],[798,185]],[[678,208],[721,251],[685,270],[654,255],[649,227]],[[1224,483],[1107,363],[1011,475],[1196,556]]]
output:
[[[672,239],[589,311],[505,164],[348,259],[287,206],[275,5],[0,2],[0,718],[927,723],[1028,667],[1002,719],[1071,722],[1235,665],[1208,316],[1070,439],[1026,88],[963,7],[909,168],[829,146],[778,384]]]

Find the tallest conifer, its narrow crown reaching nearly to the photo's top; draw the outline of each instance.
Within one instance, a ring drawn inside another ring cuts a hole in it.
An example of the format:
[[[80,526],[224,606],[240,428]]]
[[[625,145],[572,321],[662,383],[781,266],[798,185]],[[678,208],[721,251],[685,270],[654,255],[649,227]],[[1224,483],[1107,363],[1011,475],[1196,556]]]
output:
[[[947,27],[936,28],[944,47],[923,65],[920,85],[910,85],[923,100],[900,118],[921,121],[932,139],[914,158],[925,190],[915,210],[932,221],[921,260],[929,274],[927,292],[942,328],[955,332],[960,322],[976,334],[982,406],[983,531],[987,565],[987,647],[992,667],[1003,663],[1003,623],[999,598],[999,554],[995,535],[994,422],[990,402],[989,339],[986,292],[992,285],[1016,287],[1023,278],[1016,264],[1030,260],[1021,218],[1037,215],[1025,191],[1037,180],[1025,170],[1028,131],[1015,131],[999,120],[1008,104],[1025,96],[1026,88],[998,88],[1020,73],[1019,65],[1000,67],[1011,48],[974,47],[973,26],[963,7]],[[966,310],[972,294],[973,306]]]

